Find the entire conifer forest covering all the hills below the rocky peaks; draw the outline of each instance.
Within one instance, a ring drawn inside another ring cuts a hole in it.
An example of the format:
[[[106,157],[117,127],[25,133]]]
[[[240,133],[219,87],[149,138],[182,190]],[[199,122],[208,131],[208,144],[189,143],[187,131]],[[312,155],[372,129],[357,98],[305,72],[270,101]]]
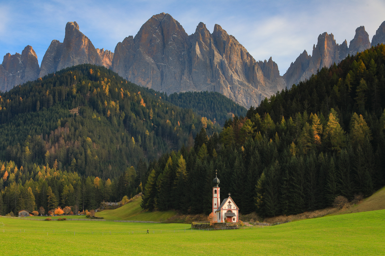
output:
[[[371,195],[385,183],[384,74],[379,45],[246,113],[88,64],[49,74],[0,94],[0,214],[90,210],[138,192],[144,209],[208,214],[215,170],[221,199],[231,193],[243,214]]]

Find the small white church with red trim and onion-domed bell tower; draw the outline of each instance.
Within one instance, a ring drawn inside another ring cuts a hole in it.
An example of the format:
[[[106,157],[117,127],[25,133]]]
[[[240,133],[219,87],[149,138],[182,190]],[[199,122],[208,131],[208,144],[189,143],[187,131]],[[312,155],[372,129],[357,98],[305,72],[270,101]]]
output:
[[[229,197],[224,199],[219,205],[220,197],[219,197],[219,178],[216,176],[213,180],[213,183],[216,186],[213,187],[213,214],[214,220],[217,222],[238,222],[238,206],[234,203],[233,199]]]

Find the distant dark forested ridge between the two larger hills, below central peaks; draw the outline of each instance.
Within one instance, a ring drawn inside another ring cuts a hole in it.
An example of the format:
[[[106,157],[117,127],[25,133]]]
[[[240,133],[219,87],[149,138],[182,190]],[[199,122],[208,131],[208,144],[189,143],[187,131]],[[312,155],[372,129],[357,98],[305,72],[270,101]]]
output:
[[[164,99],[176,106],[192,109],[213,122],[219,122],[221,126],[234,115],[245,116],[247,112],[246,108],[219,92],[175,92],[169,96],[165,95]]]

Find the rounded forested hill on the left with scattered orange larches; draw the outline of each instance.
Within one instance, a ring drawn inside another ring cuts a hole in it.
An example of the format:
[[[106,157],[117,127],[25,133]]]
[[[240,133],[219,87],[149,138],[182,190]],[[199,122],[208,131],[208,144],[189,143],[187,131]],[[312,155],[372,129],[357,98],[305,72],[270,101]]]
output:
[[[201,127],[220,130],[159,92],[89,64],[3,92],[0,104],[2,215],[120,201],[141,191],[148,160],[193,145]]]

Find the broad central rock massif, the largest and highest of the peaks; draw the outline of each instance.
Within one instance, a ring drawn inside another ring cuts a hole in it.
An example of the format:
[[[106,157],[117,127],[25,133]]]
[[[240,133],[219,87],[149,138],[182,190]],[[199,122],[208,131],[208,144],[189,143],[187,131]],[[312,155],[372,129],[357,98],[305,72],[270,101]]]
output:
[[[135,37],[117,44],[111,69],[157,91],[217,91],[245,107],[285,88],[271,59],[262,69],[221,26],[211,34],[199,23],[189,36],[166,13],[152,16]]]

